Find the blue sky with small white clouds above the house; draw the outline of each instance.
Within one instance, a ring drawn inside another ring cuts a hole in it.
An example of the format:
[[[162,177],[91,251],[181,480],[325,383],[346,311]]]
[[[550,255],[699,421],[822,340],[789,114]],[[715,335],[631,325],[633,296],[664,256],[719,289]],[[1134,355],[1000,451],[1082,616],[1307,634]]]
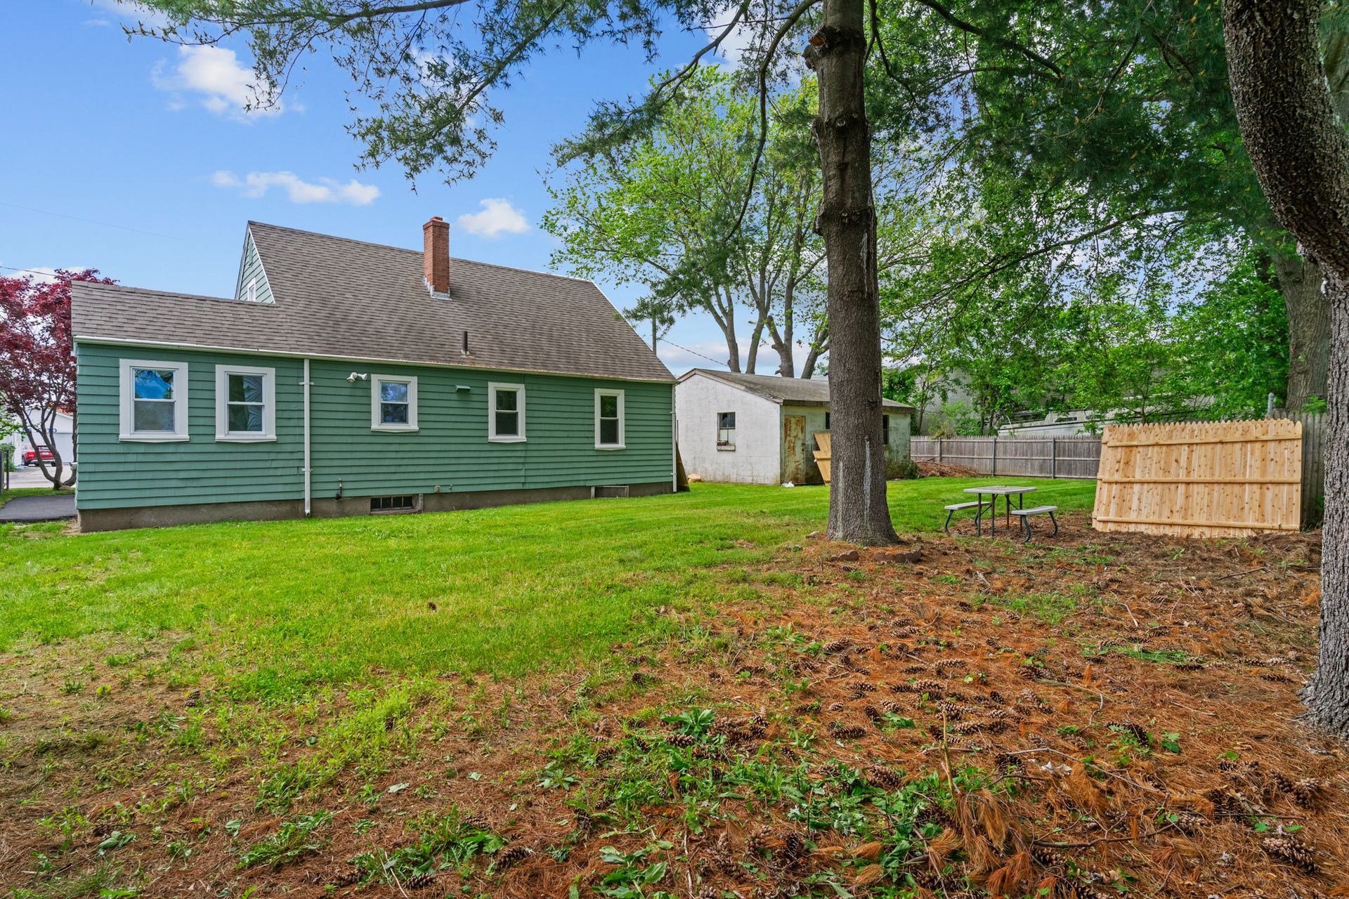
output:
[[[598,100],[639,92],[639,50],[560,50],[495,94],[499,148],[468,182],[434,175],[417,193],[402,171],[356,171],[347,135],[347,77],[322,58],[282,108],[246,115],[247,47],[190,49],[121,32],[113,0],[5,0],[0,84],[9,137],[0,142],[0,272],[93,267],[124,284],[227,295],[250,218],[417,248],[429,216],[451,222],[451,253],[548,270],[552,146]],[[657,65],[687,59],[703,35],[670,31]],[[465,217],[465,218],[461,218]],[[476,232],[476,233],[475,233]],[[602,284],[623,307],[639,288]],[[724,359],[711,319],[669,340]],[[676,373],[706,359],[661,348]]]

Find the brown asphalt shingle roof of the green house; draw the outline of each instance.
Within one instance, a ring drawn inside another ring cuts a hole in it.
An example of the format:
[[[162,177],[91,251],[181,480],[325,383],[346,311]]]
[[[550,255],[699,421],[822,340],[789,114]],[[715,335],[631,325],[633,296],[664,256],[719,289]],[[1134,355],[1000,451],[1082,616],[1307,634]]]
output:
[[[274,303],[77,282],[76,337],[672,380],[588,280],[451,259],[445,299],[428,292],[421,251],[248,228]]]

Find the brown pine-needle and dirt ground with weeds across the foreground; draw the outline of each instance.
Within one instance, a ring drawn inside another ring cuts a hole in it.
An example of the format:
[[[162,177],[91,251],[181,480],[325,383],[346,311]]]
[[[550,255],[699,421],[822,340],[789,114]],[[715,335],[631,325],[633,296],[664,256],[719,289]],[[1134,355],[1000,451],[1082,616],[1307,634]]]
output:
[[[676,639],[527,682],[390,677],[259,709],[161,681],[113,704],[69,691],[78,647],[9,656],[0,884],[1344,895],[1345,749],[1296,721],[1314,536],[1068,515],[1027,546],[927,536],[916,563],[828,561],[846,549],[723,571]],[[181,671],[171,642],[138,652]]]

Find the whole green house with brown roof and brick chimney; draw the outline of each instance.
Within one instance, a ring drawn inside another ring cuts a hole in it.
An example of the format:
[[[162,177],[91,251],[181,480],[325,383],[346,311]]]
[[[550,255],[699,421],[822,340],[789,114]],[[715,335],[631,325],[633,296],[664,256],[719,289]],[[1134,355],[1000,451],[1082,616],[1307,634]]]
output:
[[[86,531],[674,487],[674,380],[588,282],[250,222],[233,297],[77,283]]]

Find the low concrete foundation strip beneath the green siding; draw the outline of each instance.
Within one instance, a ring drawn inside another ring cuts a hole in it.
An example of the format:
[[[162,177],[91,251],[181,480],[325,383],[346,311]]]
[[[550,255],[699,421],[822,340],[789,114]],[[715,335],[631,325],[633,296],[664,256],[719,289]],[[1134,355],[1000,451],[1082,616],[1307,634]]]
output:
[[[606,485],[608,487],[608,485]],[[657,496],[673,492],[670,481],[650,484],[623,484],[629,496]],[[465,493],[420,493],[415,508],[397,512],[371,512],[368,496],[347,496],[340,500],[314,499],[313,518],[345,518],[351,515],[415,515],[418,512],[452,512],[456,509],[518,505],[521,503],[553,503],[558,500],[588,500],[592,487],[550,487],[525,491],[475,491]],[[611,491],[611,488],[608,488]],[[603,496],[603,493],[600,493]],[[185,505],[140,505],[132,508],[80,509],[80,530],[120,531],[134,527],[169,527],[174,524],[201,524],[206,522],[275,522],[304,518],[302,500],[272,500],[259,503],[197,503]]]

